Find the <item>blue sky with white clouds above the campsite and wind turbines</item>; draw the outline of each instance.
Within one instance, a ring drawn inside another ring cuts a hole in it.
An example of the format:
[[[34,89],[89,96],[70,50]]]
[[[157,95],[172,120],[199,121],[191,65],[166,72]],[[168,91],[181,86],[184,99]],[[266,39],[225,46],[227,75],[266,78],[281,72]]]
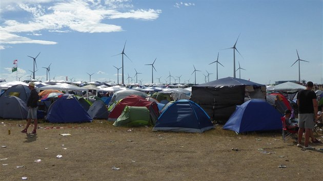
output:
[[[321,84],[322,8],[318,0],[2,0],[0,79],[30,79],[28,56],[40,52],[35,79],[89,82],[93,74],[91,81],[121,83],[122,69],[118,75],[114,66],[122,67],[125,47],[125,83],[152,83],[152,66],[145,64],[156,59],[154,83],[169,83],[169,75],[171,83],[195,83],[196,73],[201,84],[217,74],[234,76],[227,48],[236,42],[236,78],[298,81],[297,50],[308,61],[300,61],[300,80]],[[210,64],[216,60],[223,66]]]

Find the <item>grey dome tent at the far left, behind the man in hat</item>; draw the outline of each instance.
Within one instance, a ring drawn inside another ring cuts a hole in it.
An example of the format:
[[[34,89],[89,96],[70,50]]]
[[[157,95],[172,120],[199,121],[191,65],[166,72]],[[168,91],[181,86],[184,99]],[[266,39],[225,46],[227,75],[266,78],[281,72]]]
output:
[[[27,119],[26,103],[16,96],[0,97],[0,117],[4,119]]]

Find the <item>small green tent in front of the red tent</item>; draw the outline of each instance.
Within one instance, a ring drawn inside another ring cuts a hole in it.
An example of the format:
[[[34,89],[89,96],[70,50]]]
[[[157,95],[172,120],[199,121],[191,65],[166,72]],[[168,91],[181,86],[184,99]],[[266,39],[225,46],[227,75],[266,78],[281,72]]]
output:
[[[122,114],[113,123],[113,126],[144,126],[150,123],[150,114],[147,107],[126,106]]]

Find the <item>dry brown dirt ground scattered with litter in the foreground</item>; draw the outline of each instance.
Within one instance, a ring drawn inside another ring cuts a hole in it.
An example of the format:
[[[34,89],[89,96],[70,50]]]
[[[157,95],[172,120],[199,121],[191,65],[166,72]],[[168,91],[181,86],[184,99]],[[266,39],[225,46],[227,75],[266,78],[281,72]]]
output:
[[[95,120],[40,123],[30,135],[20,132],[25,124],[0,120],[0,180],[323,179],[323,145],[303,151],[293,139],[282,142],[280,131],[237,135],[217,125],[201,134],[154,132]]]

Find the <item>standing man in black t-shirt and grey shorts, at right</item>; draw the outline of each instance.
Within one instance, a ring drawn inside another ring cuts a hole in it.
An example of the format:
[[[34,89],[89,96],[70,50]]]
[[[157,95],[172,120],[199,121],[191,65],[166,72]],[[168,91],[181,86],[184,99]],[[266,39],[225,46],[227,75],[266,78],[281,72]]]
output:
[[[317,101],[316,94],[312,90],[313,82],[309,81],[306,83],[306,89],[300,90],[297,94],[297,105],[298,105],[298,147],[301,147],[300,142],[302,134],[305,129],[305,149],[314,149],[309,146],[309,137],[312,129],[315,126],[317,120]]]

